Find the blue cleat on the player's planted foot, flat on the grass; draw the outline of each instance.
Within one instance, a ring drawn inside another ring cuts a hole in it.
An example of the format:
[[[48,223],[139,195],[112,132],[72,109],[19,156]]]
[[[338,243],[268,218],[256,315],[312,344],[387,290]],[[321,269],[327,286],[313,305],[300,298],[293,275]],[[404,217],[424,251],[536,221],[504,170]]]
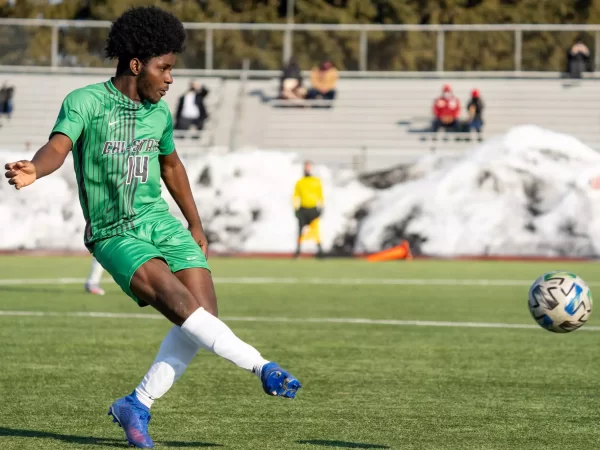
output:
[[[135,392],[110,405],[108,415],[113,417],[113,422],[123,427],[130,446],[138,448],[154,447],[154,442],[148,435],[150,410],[140,403],[135,396]]]

